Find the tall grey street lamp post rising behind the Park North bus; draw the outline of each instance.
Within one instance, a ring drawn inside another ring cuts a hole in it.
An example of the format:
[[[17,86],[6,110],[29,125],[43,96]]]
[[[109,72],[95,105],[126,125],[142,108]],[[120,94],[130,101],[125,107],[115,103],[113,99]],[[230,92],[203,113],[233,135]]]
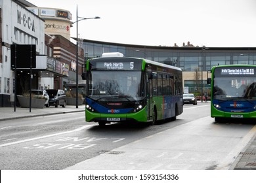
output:
[[[81,18],[80,20],[78,20],[78,18]],[[93,18],[83,18],[83,17],[79,17],[77,14],[77,5],[76,5],[76,21],[73,22],[72,24],[76,23],[76,67],[75,67],[75,72],[76,72],[76,78],[75,78],[75,86],[76,86],[76,90],[75,90],[75,107],[78,108],[78,22],[81,20],[88,20],[88,19],[99,19],[100,17],[95,16]]]

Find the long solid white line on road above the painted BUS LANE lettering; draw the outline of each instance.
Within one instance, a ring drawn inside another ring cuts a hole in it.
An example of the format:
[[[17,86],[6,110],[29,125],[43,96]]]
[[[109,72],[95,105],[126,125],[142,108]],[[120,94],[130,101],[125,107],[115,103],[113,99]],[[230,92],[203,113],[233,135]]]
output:
[[[16,142],[9,142],[9,143],[6,143],[6,144],[0,144],[0,147],[11,146],[11,145],[14,145],[14,144],[30,142],[30,141],[35,141],[35,140],[39,140],[39,139],[45,139],[45,138],[48,138],[48,137],[64,135],[64,134],[67,134],[67,133],[74,133],[76,131],[81,131],[83,129],[87,129],[88,127],[91,127],[91,126],[92,125],[84,125],[82,127],[79,127],[77,129],[74,129],[74,130],[71,130],[71,131],[64,131],[64,132],[60,132],[60,133],[54,133],[54,134],[51,134],[51,135],[44,135],[44,136],[41,136],[41,137],[35,137],[35,138],[32,138],[32,139],[25,139],[25,140],[22,140],[22,141],[16,141]]]

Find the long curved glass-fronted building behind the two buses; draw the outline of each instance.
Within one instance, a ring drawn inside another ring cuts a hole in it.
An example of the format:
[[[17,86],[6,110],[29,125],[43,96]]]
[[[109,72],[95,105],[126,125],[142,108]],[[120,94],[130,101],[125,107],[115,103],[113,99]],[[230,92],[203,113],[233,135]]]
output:
[[[207,71],[214,65],[256,64],[256,48],[144,46],[83,40],[85,59],[101,57],[106,52],[121,52],[124,56],[146,58],[180,67],[183,84],[190,93],[209,94]],[[203,87],[203,90],[202,90]]]

